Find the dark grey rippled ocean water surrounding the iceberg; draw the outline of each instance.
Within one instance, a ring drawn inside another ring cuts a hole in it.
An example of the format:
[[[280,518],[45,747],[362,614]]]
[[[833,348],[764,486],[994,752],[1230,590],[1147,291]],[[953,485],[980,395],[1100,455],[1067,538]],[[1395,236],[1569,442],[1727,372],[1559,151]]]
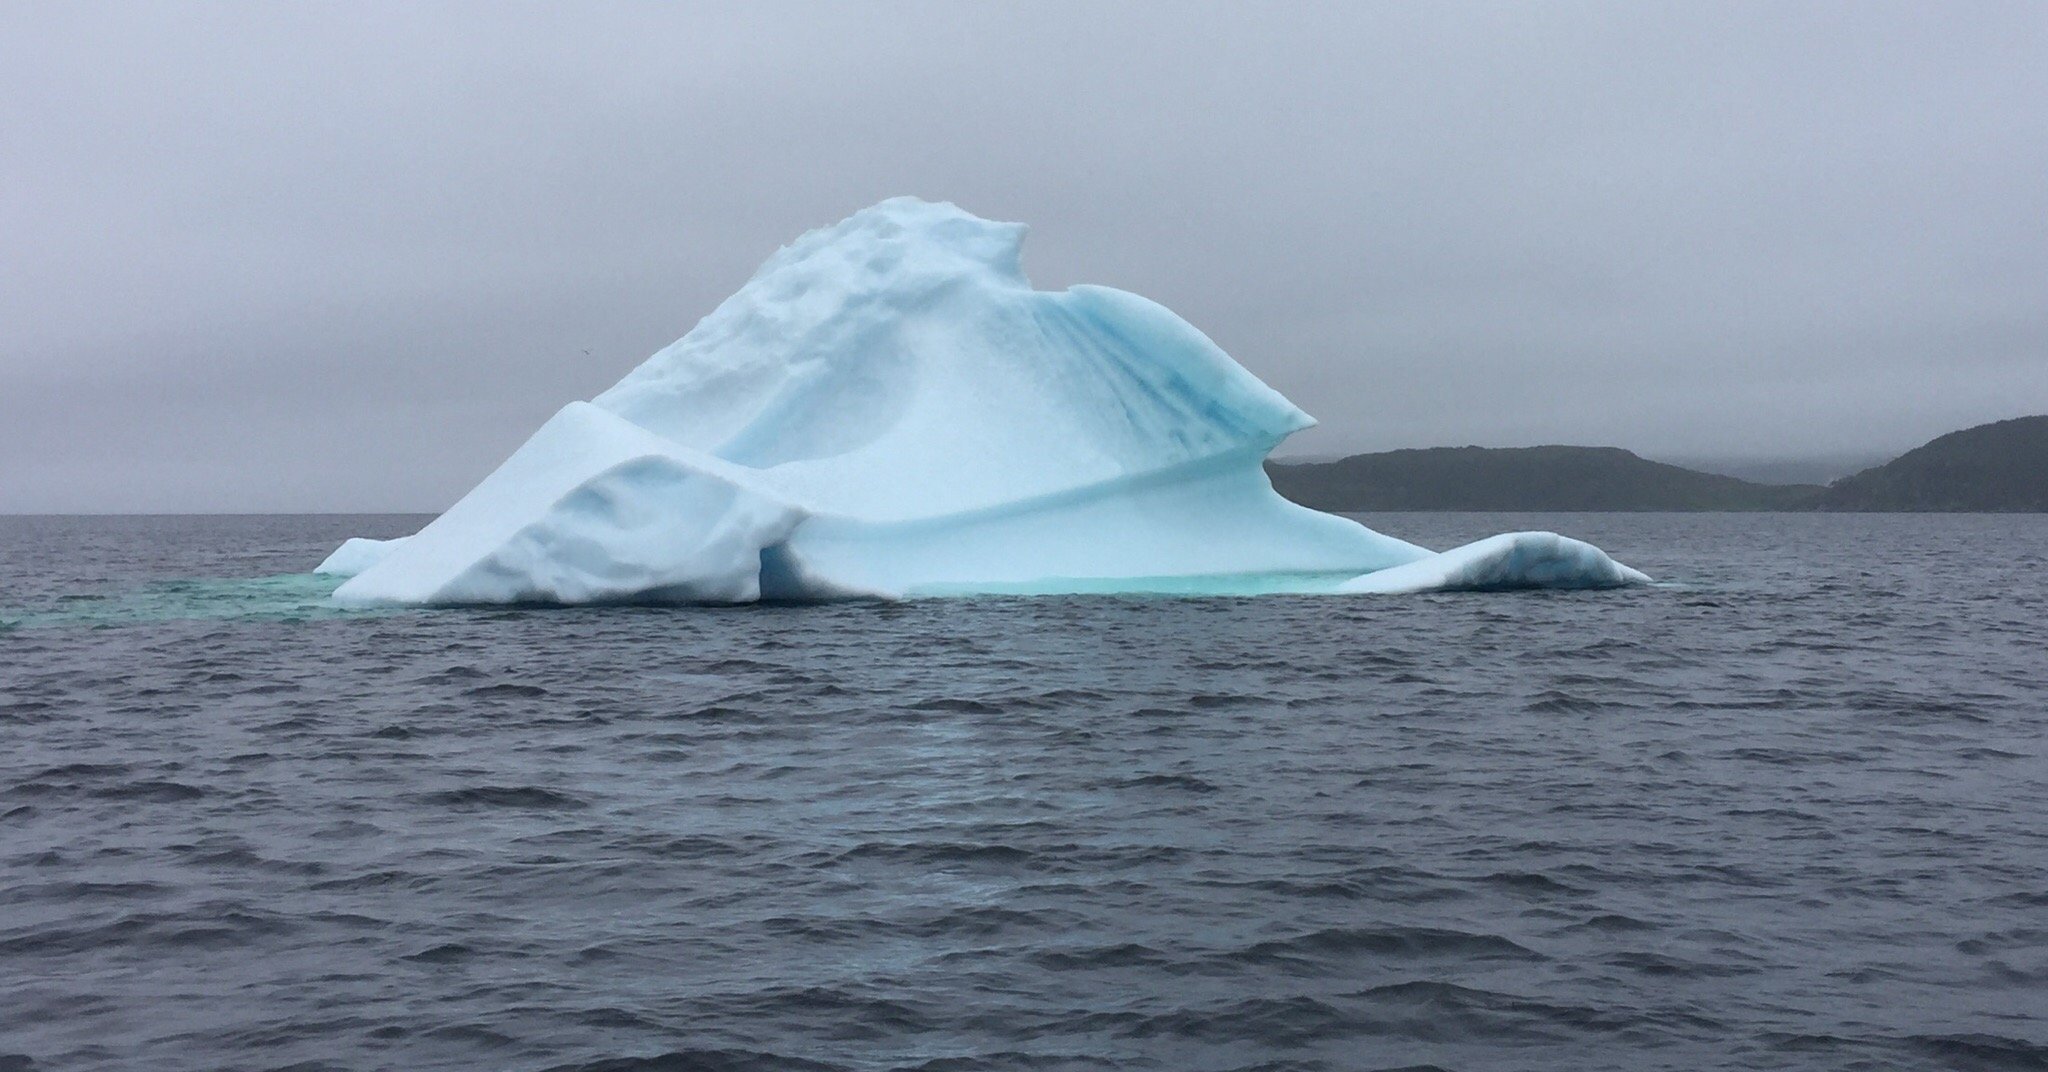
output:
[[[0,519],[0,1068],[2048,1068],[2048,517],[1626,592],[342,615]]]

